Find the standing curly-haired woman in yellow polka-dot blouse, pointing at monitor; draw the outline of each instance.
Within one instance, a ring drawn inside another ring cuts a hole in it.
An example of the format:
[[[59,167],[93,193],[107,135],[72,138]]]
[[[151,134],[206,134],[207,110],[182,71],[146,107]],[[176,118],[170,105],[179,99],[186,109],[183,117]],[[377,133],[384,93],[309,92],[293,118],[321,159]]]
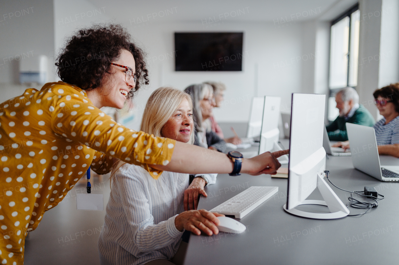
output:
[[[233,162],[225,154],[204,155],[198,146],[130,130],[105,115],[101,107],[121,109],[140,85],[148,84],[143,57],[120,25],[81,29],[57,58],[62,82],[47,83],[40,91],[27,89],[0,104],[3,264],[23,263],[27,231],[62,201],[89,166],[105,174],[119,159],[141,165],[154,179],[163,170],[238,173],[241,169],[258,175],[279,168],[278,154]],[[218,219],[210,212],[205,215],[197,214],[197,221],[186,229],[217,233]]]

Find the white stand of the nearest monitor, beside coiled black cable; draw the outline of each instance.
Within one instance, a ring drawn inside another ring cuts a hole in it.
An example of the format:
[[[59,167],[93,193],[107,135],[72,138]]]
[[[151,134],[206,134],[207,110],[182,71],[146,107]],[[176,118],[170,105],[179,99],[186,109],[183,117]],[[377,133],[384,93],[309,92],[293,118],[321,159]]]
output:
[[[292,208],[288,210],[285,204],[283,206],[284,210],[290,214],[296,216],[312,218],[312,219],[338,219],[345,217],[349,214],[348,208],[342,203],[340,198],[334,193],[331,187],[326,183],[326,181],[317,174],[317,187],[323,196],[324,201],[318,200],[305,200],[300,205],[314,204],[314,205],[324,205],[327,206],[330,212],[328,213],[316,213],[316,212],[304,212],[301,210],[296,210]]]

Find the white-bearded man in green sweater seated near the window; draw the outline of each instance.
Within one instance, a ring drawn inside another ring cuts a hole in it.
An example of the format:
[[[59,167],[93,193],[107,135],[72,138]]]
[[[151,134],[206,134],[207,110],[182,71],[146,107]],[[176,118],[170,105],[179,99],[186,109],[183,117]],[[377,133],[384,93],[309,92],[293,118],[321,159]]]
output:
[[[355,123],[372,127],[375,123],[371,113],[359,104],[359,95],[354,88],[346,87],[336,96],[337,109],[340,115],[326,127],[328,138],[332,141],[348,140],[345,123]]]

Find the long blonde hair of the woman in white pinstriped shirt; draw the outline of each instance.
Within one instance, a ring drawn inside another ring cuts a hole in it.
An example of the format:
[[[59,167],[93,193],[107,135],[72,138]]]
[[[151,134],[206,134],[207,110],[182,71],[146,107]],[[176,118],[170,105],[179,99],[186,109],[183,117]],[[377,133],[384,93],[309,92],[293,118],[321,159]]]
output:
[[[188,101],[188,105],[192,109],[191,97],[185,92],[166,86],[156,89],[148,98],[141,119],[140,131],[162,137],[162,128],[184,99]],[[188,144],[194,144],[194,137],[194,131],[192,131]],[[114,165],[115,170],[112,170],[111,179],[113,179],[116,171],[124,164],[126,162],[119,161]]]

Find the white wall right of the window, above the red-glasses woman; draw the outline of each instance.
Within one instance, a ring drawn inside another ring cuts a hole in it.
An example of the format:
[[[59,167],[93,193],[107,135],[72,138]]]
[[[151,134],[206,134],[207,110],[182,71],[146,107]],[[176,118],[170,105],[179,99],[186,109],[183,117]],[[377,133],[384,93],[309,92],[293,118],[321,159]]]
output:
[[[399,3],[361,0],[359,10],[359,101],[378,120],[381,116],[373,103],[373,92],[399,81]]]

